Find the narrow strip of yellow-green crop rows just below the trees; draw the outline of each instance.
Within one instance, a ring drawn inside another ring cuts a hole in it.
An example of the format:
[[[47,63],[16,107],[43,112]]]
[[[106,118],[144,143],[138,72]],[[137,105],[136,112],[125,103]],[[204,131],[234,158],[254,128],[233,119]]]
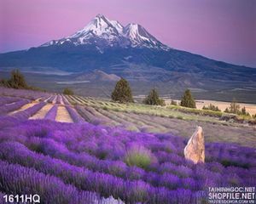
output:
[[[230,124],[220,120],[220,118],[222,116],[234,116],[233,114],[226,114],[220,111],[190,109],[179,105],[152,106],[139,103],[119,104],[113,103],[107,99],[95,99],[81,96],[69,96],[68,99],[73,105],[88,105],[106,111],[120,111],[126,113],[132,112],[136,114],[147,114],[151,116],[162,116],[201,122],[217,122],[221,124]]]

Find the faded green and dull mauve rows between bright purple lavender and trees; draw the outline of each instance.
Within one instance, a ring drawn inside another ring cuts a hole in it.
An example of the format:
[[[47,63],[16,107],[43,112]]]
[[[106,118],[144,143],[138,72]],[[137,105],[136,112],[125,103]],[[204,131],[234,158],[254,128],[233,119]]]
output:
[[[67,99],[77,110],[86,107],[89,117],[85,120],[95,124],[125,127],[132,131],[173,133],[186,138],[191,136],[196,125],[201,125],[209,142],[256,145],[255,126],[221,121],[220,116],[225,115],[222,112],[191,110],[175,105],[124,105],[79,96],[69,96]]]

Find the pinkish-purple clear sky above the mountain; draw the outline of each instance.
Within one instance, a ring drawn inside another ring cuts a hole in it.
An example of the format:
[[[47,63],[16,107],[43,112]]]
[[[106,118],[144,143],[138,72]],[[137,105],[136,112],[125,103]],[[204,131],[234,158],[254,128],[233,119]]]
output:
[[[172,48],[256,67],[254,0],[0,0],[0,52],[66,37],[96,14],[141,24]]]

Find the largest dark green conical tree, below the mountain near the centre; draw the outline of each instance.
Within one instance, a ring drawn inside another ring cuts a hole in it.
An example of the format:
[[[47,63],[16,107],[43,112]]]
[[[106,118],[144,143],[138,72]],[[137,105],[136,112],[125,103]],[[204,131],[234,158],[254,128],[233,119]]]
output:
[[[121,78],[113,89],[111,99],[114,101],[119,101],[120,103],[133,102],[129,82],[127,82],[124,78]]]

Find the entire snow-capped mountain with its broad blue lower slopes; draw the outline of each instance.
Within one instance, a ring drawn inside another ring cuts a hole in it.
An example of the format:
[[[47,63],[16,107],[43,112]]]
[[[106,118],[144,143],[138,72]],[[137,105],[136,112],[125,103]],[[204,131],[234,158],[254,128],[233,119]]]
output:
[[[55,71],[72,72],[74,74],[66,78],[90,81],[91,85],[86,83],[84,90],[93,93],[99,91],[98,86],[113,89],[113,82],[125,77],[133,83],[137,94],[147,93],[154,84],[160,86],[163,94],[170,94],[170,88],[174,92],[195,88],[201,90],[202,98],[206,99],[207,93],[211,97],[214,95],[212,90],[215,88],[216,96],[223,95],[223,99],[230,96],[232,99],[233,90],[237,89],[243,90],[243,94],[238,91],[236,99],[243,97],[245,92],[250,99],[256,99],[251,97],[256,88],[256,69],[168,48],[143,26],[122,26],[100,14],[68,37],[35,48],[0,54],[0,67],[9,67],[10,70],[19,67],[21,71],[30,67],[32,71],[42,73],[53,69],[53,75]],[[224,88],[230,93],[219,94]]]

